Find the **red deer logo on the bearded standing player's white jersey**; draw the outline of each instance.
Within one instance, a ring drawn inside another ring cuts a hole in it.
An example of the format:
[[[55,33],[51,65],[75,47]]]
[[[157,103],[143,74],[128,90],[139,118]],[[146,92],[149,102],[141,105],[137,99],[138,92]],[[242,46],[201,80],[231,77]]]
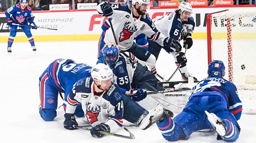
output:
[[[137,26],[132,25],[131,22],[125,22],[123,31],[120,32],[119,42],[130,39],[131,35],[137,31]]]

